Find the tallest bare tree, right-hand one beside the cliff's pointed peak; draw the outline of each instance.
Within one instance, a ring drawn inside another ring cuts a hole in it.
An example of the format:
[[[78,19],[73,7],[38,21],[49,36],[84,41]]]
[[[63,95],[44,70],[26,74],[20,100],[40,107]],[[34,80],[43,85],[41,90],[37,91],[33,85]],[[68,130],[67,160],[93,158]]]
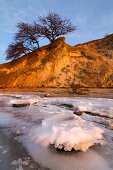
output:
[[[49,13],[46,17],[38,17],[41,25],[40,34],[53,42],[57,37],[74,32],[77,26],[72,26],[70,19],[62,19],[56,13]]]

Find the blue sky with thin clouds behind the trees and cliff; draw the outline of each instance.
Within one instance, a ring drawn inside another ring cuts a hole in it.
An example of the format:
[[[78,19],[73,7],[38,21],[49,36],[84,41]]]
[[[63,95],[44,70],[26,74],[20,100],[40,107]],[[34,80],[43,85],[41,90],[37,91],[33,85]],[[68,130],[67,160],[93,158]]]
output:
[[[113,33],[113,0],[0,0],[0,63],[7,62],[5,51],[13,42],[17,23],[32,23],[49,12],[71,18],[77,26],[74,33],[65,36],[72,46]],[[39,43],[43,46],[49,41]]]

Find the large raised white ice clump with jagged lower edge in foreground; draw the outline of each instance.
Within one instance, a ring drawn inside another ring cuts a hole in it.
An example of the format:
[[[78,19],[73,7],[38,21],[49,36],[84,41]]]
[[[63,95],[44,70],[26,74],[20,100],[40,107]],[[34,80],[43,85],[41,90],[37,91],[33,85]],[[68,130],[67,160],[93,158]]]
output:
[[[90,146],[103,144],[104,131],[77,115],[59,114],[46,118],[40,128],[32,129],[32,139],[42,146],[53,145],[65,151],[86,151]]]

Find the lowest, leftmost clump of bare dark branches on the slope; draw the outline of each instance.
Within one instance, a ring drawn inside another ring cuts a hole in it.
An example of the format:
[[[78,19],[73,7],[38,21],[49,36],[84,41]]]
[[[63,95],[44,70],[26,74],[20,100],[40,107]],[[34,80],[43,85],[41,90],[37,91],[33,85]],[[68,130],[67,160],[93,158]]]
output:
[[[11,43],[6,50],[6,60],[19,58],[31,51],[31,49],[24,46],[23,42]]]

